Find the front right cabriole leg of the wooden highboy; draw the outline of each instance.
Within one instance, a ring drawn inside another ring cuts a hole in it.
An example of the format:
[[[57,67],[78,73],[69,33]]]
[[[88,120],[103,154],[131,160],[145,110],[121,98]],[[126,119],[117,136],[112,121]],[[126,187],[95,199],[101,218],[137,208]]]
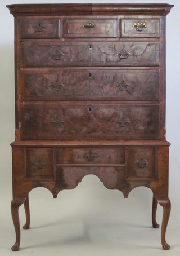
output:
[[[167,225],[170,215],[170,200],[169,198],[160,198],[159,204],[163,207],[163,221],[161,227],[161,243],[164,250],[169,250],[170,245],[165,241],[165,232],[167,231]]]

